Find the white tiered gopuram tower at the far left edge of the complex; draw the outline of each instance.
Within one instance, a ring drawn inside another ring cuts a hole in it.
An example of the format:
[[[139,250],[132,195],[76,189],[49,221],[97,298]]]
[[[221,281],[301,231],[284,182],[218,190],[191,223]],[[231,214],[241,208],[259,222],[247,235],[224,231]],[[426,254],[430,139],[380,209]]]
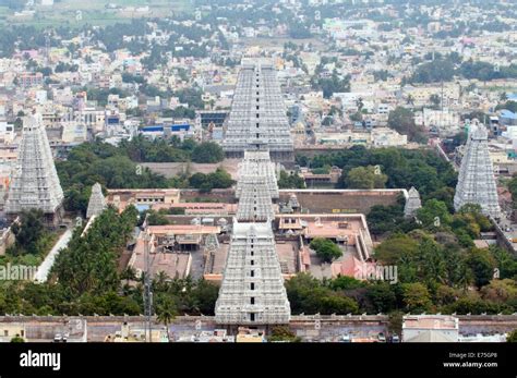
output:
[[[39,209],[48,221],[53,221],[62,202],[63,191],[41,115],[25,117],[16,168],[5,203],[5,214],[15,217],[24,210]]]

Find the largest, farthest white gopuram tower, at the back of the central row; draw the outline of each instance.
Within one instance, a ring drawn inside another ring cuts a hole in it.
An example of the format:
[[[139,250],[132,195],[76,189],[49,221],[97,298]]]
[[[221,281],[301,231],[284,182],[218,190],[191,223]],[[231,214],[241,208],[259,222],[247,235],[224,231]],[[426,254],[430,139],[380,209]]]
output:
[[[289,120],[270,62],[243,61],[223,148],[229,158],[242,158],[245,150],[269,150],[275,161],[293,160]]]

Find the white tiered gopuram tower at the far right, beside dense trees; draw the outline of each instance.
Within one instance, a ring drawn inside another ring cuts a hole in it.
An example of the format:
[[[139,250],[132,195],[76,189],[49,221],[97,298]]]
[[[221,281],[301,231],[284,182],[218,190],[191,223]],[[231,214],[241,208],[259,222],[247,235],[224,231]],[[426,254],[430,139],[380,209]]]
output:
[[[470,129],[461,159],[454,208],[459,210],[466,204],[480,205],[483,214],[493,218],[498,218],[501,215],[484,125],[474,125]]]

